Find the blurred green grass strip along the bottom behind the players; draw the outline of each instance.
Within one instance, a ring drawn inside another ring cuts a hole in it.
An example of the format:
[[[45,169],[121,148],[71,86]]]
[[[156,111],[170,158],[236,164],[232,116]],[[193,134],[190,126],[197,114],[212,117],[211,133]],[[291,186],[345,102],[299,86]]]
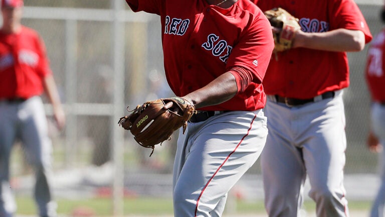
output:
[[[74,210],[83,208],[93,211],[95,216],[109,216],[112,214],[112,200],[110,198],[92,198],[82,200],[58,199],[58,213],[71,215]],[[17,197],[18,214],[34,215],[36,212],[35,203],[29,197]],[[370,201],[349,201],[350,210],[368,210]],[[125,215],[172,215],[172,200],[164,198],[126,198],[124,199]],[[237,213],[265,213],[262,201],[238,200],[235,204]],[[313,211],[315,204],[306,200],[304,209]]]

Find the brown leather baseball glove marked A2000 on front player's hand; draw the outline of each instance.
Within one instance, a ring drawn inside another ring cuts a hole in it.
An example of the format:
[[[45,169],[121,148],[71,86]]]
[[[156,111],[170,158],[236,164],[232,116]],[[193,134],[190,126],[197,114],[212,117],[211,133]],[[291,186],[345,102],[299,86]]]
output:
[[[166,104],[169,108],[165,108]],[[155,145],[171,139],[175,130],[183,127],[184,133],[187,121],[196,110],[195,106],[185,99],[172,97],[147,101],[129,112],[131,114],[120,118],[118,124],[129,130],[139,145],[152,148],[151,156]]]

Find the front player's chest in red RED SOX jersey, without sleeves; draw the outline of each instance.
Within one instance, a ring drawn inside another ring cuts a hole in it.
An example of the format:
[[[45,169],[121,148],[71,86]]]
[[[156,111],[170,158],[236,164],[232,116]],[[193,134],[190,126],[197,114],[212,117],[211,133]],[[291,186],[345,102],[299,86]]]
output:
[[[225,72],[250,15],[237,4],[221,9],[202,0],[165,3],[166,13],[161,16],[164,66],[171,88],[183,95]]]

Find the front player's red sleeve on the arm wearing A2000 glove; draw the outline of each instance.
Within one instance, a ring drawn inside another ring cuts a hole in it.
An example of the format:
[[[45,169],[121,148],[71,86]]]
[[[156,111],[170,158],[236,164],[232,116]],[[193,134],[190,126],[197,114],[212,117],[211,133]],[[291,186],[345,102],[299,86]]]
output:
[[[248,31],[240,37],[229,57],[227,70],[239,66],[249,70],[252,81],[261,83],[263,80],[270,57],[274,48],[271,26],[261,10],[255,15],[253,23]]]

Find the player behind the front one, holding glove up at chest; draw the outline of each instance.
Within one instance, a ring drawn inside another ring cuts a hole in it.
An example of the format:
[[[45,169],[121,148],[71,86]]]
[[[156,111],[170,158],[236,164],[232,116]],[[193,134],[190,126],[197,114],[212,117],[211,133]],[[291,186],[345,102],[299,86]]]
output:
[[[317,216],[348,216],[343,185],[349,85],[345,52],[371,40],[353,0],[254,0],[299,19],[292,49],[272,58],[263,81],[269,135],[261,155],[269,216],[299,216],[306,175]],[[272,29],[274,30],[274,29]]]

